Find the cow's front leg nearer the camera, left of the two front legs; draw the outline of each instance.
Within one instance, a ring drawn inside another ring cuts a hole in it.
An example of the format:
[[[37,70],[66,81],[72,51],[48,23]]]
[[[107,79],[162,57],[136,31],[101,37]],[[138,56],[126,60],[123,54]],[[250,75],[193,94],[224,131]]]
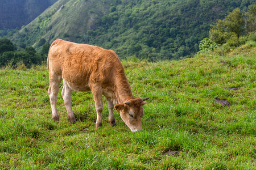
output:
[[[102,103],[102,90],[101,88],[95,87],[92,89],[93,99],[95,102],[95,108],[97,112],[97,121],[96,127],[100,128],[102,126],[102,118],[101,113],[103,111],[103,103]]]

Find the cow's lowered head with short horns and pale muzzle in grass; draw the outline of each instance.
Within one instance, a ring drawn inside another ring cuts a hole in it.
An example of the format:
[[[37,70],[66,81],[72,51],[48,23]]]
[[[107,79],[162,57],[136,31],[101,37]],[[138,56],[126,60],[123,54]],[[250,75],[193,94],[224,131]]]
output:
[[[120,116],[125,124],[131,129],[131,131],[142,130],[141,117],[143,115],[142,106],[147,103],[149,99],[131,99],[125,103],[116,104],[115,109],[120,112]]]

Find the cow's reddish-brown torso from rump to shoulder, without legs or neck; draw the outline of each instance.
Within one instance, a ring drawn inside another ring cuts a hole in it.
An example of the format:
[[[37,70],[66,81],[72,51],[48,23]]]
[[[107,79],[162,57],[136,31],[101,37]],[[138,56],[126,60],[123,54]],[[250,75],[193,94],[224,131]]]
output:
[[[112,50],[60,39],[53,41],[49,49],[48,69],[61,75],[77,91],[89,90],[94,82],[111,83],[113,68],[123,70]]]

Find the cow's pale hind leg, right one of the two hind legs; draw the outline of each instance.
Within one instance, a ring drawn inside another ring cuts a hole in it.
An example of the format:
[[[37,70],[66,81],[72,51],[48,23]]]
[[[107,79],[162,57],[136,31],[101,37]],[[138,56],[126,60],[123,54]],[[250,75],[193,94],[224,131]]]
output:
[[[71,122],[71,124],[75,124],[76,120],[71,105],[72,92],[73,90],[68,86],[67,82],[63,80],[63,89],[61,91],[61,96],[63,97],[64,104],[68,112],[68,119]]]

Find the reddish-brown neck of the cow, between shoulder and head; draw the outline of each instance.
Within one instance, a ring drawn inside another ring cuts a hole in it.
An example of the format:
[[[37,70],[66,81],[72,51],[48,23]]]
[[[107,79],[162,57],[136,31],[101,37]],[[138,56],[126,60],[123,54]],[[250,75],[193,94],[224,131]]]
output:
[[[115,95],[117,97],[118,103],[123,103],[130,99],[134,99],[133,94],[131,94],[131,88],[125,76],[125,73],[120,73],[115,78],[115,89]]]

